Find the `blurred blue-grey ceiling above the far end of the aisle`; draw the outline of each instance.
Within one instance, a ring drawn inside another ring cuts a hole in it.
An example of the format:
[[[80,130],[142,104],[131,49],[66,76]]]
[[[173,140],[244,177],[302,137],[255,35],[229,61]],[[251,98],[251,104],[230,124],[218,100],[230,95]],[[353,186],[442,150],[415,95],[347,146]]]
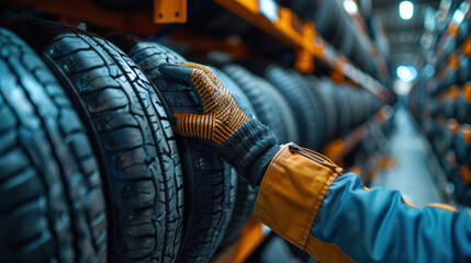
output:
[[[372,0],[373,12],[384,24],[391,45],[391,62],[393,66],[413,65],[420,68],[423,57],[419,50],[420,37],[424,33],[424,15],[427,8],[438,9],[439,0],[411,0],[414,3],[414,15],[411,20],[402,20],[399,14],[399,0]]]

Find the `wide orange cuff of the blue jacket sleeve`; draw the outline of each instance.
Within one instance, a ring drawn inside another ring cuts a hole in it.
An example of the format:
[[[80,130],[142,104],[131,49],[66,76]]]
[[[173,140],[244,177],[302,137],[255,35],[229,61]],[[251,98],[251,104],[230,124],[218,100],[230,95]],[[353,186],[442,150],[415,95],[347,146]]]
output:
[[[261,182],[254,217],[304,249],[324,195],[341,168],[317,152],[302,150],[287,145],[274,156]]]

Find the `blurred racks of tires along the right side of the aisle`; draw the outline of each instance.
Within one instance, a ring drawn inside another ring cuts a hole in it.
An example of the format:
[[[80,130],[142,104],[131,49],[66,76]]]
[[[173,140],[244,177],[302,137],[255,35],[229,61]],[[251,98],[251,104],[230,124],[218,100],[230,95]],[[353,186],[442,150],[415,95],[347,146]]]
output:
[[[439,26],[437,41],[428,50],[437,55],[436,61],[424,67],[426,77],[418,79],[408,98],[411,112],[429,140],[448,183],[453,186],[456,201],[464,205],[471,205],[471,66],[466,50],[470,21],[466,18],[451,37],[449,24]],[[431,73],[428,76],[425,71]]]

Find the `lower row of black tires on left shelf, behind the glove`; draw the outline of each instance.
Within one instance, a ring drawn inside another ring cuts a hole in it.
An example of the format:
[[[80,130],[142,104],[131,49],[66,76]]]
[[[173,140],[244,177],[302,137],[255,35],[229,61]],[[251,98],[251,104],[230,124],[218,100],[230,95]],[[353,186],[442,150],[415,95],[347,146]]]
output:
[[[201,111],[169,83],[173,50],[60,23],[0,25],[0,261],[208,262],[234,242],[257,188],[171,129]],[[277,65],[214,68],[280,144],[322,150],[380,103]]]

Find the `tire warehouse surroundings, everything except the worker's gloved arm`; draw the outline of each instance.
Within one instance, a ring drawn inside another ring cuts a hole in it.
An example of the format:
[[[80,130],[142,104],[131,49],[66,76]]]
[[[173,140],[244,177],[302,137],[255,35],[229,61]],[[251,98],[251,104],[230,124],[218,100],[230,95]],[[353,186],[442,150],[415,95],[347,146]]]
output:
[[[469,0],[1,0],[0,262],[317,262],[172,132],[210,66],[277,135],[422,207],[471,205]],[[4,202],[3,202],[4,201]],[[4,203],[4,204],[3,204]]]

